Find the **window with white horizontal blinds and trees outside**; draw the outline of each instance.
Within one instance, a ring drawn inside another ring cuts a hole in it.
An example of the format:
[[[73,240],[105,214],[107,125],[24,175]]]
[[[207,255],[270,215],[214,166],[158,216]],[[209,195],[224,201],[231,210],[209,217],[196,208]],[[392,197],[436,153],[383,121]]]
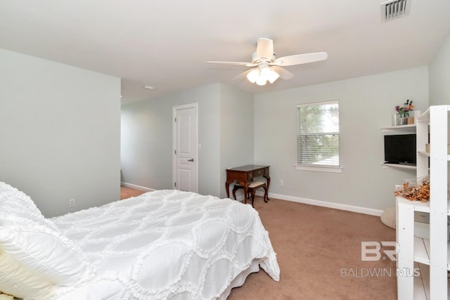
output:
[[[339,101],[297,105],[297,169],[341,172]]]

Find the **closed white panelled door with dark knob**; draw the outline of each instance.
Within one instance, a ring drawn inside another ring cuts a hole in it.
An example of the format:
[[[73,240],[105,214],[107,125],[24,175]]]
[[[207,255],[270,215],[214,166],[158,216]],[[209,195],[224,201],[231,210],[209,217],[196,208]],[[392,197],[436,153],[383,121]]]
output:
[[[174,189],[198,193],[197,103],[179,105],[174,112]]]

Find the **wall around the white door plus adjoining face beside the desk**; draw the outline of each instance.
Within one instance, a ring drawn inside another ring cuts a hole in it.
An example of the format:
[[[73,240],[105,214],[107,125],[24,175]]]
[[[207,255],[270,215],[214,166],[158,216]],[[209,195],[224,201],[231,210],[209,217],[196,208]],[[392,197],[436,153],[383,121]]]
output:
[[[253,96],[212,84],[122,105],[122,182],[173,188],[172,107],[198,103],[198,192],[226,197],[227,167],[253,162]]]

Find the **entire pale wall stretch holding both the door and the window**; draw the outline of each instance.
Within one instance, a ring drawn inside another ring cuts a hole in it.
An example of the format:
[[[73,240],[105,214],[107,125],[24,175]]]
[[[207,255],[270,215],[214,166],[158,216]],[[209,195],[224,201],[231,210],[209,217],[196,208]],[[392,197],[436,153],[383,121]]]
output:
[[[296,105],[336,99],[341,105],[344,171],[295,170]],[[122,181],[172,188],[172,107],[197,102],[200,193],[226,197],[226,168],[269,164],[274,195],[383,210],[394,204],[394,185],[415,176],[380,166],[384,160],[380,127],[390,126],[395,105],[406,99],[414,101],[416,110],[428,107],[428,67],[256,96],[214,84],[123,105]]]

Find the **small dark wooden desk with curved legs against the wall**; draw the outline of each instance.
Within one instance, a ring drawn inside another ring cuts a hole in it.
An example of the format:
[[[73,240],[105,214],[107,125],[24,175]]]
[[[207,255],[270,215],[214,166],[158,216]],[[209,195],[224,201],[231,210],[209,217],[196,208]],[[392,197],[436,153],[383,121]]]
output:
[[[238,184],[244,187],[244,199],[247,203],[248,185],[253,178],[258,176],[264,176],[267,180],[267,190],[269,190],[270,176],[269,166],[259,166],[257,164],[249,164],[243,167],[237,167],[226,170],[226,197],[230,197],[230,184],[234,181],[238,181]]]

